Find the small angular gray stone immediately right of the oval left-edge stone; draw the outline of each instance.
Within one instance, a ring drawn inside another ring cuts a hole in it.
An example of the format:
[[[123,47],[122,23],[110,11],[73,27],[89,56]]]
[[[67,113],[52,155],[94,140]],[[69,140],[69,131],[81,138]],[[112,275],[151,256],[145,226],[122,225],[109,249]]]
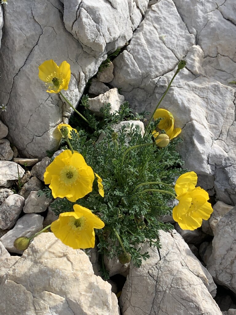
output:
[[[40,213],[46,211],[53,199],[46,198],[45,195],[37,196],[37,192],[30,192],[30,195],[25,200],[23,211],[25,213]]]

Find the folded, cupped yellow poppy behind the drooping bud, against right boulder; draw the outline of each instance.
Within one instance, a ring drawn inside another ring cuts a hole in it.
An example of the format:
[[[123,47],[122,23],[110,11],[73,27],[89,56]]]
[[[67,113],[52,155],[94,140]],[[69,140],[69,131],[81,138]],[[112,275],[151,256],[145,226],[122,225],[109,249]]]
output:
[[[163,108],[158,108],[155,111],[153,118],[157,119],[159,117],[163,119],[161,119],[160,123],[158,124],[158,128],[161,130],[164,129],[170,140],[177,137],[177,135],[181,133],[181,128],[174,128],[175,120],[171,112]]]

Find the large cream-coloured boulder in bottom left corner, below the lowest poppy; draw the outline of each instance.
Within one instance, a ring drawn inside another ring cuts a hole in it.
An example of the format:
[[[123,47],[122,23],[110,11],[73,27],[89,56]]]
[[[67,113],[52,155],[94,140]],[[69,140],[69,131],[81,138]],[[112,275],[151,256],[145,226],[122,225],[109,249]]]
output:
[[[0,300],[8,315],[119,315],[111,285],[94,275],[87,255],[64,245],[50,232],[34,238],[8,270]]]

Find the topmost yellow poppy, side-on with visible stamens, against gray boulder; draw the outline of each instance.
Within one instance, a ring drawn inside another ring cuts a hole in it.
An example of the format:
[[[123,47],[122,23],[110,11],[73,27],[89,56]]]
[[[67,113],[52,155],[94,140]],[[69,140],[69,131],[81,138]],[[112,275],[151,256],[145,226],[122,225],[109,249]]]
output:
[[[48,93],[67,90],[70,82],[70,64],[63,61],[58,66],[52,59],[46,60],[38,67],[38,76],[45,82]]]

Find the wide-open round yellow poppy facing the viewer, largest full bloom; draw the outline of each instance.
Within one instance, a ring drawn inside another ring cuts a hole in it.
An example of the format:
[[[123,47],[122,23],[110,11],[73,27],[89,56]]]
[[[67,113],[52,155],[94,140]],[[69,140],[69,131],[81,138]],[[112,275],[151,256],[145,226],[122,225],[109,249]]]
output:
[[[72,154],[70,150],[55,157],[44,173],[44,182],[50,184],[53,197],[66,197],[72,202],[92,192],[93,181],[93,169],[79,152]]]

